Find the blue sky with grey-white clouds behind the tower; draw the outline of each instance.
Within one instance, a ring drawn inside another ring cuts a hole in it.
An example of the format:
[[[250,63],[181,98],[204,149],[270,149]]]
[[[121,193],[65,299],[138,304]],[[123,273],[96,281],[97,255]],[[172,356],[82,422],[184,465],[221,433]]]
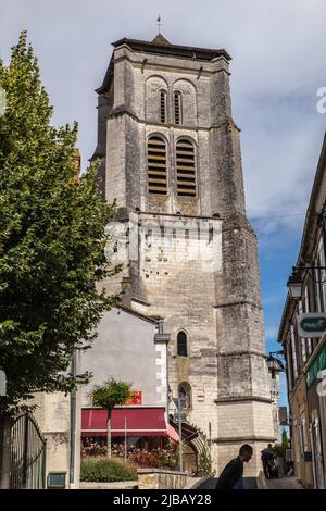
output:
[[[268,350],[294,264],[326,126],[325,0],[1,1],[0,55],[21,29],[39,58],[55,124],[79,122],[86,167],[96,144],[97,88],[122,37],[151,40],[156,16],[174,43],[225,48],[231,55],[234,119],[241,133],[247,211],[259,236]],[[284,401],[285,385],[283,383]]]

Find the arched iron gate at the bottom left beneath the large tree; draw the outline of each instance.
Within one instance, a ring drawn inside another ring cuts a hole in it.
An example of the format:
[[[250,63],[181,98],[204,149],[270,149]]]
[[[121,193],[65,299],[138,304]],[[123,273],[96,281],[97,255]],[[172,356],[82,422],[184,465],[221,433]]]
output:
[[[45,489],[47,443],[29,413],[17,415],[11,428],[10,488]]]

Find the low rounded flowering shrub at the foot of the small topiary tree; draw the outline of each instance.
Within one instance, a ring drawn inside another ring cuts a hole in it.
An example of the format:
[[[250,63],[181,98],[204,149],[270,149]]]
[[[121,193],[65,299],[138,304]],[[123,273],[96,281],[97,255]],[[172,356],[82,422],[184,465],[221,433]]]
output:
[[[80,481],[114,483],[137,481],[137,470],[130,463],[108,458],[84,459],[80,465]]]

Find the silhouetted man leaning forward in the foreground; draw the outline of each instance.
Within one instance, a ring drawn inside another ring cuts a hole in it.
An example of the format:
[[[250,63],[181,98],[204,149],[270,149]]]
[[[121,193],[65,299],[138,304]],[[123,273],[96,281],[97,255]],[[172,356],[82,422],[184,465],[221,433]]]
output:
[[[248,463],[253,449],[248,444],[240,447],[239,456],[224,468],[218,477],[215,489],[243,489],[243,463]]]

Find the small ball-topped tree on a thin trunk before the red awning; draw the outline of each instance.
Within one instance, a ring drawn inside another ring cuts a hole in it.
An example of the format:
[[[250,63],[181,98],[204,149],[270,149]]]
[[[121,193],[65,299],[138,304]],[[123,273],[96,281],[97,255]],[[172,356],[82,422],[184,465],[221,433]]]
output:
[[[114,378],[106,379],[102,385],[96,385],[90,391],[93,407],[104,408],[106,414],[106,451],[111,458],[111,416],[112,410],[118,404],[124,404],[133,394],[131,384]]]

